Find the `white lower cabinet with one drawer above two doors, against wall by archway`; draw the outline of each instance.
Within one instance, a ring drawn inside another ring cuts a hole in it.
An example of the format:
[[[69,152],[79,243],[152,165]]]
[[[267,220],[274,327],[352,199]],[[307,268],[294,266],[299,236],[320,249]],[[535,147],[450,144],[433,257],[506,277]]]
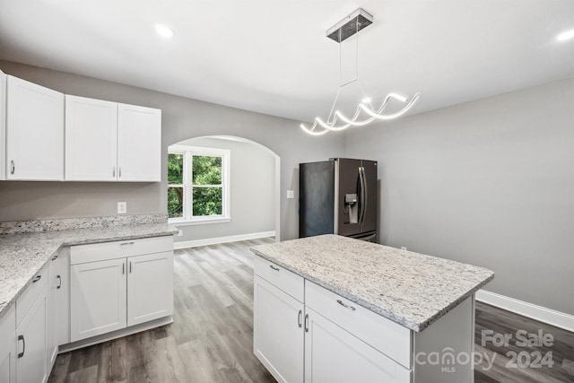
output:
[[[169,251],[133,255],[146,248]],[[170,237],[74,246],[70,257],[72,342],[173,314]]]

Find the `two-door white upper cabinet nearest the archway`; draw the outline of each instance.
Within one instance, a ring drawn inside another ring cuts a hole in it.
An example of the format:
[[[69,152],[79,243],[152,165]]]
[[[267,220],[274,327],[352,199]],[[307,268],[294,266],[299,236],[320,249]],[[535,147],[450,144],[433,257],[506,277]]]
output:
[[[161,181],[161,110],[66,95],[65,179]]]

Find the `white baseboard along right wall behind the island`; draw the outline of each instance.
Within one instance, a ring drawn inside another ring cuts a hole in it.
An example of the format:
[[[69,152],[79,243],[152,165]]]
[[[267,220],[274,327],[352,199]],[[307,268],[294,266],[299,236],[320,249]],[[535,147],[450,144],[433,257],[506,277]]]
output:
[[[574,316],[565,314],[553,309],[547,309],[537,306],[524,300],[515,300],[495,292],[479,290],[475,295],[476,300],[488,303],[500,309],[507,309],[528,318],[533,318],[552,326],[564,328],[565,330],[574,331]]]

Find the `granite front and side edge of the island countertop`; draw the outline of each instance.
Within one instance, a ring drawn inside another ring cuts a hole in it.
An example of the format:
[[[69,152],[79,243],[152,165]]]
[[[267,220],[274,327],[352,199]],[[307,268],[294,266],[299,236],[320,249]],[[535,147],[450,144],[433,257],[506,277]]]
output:
[[[466,300],[468,297],[473,295],[474,292],[477,292],[486,283],[489,283],[489,282],[491,282],[492,279],[494,279],[494,273],[492,273],[489,278],[485,279],[481,283],[477,283],[472,289],[470,289],[467,292],[465,292],[464,294],[462,294],[457,300],[454,300],[453,302],[451,302],[447,307],[440,309],[435,315],[431,316],[431,318],[428,318],[428,319],[426,319],[420,323],[417,323],[417,322],[413,322],[412,320],[408,320],[407,318],[396,315],[396,313],[391,312],[387,309],[380,308],[379,306],[371,303],[370,301],[362,300],[361,298],[357,297],[356,295],[352,294],[351,292],[348,292],[344,289],[333,286],[329,283],[325,283],[324,281],[322,281],[321,279],[319,279],[313,275],[310,275],[310,274],[307,274],[305,272],[300,271],[298,268],[294,267],[293,265],[285,264],[284,262],[282,262],[282,261],[280,261],[274,257],[270,257],[268,255],[265,255],[265,253],[257,250],[257,248],[251,248],[251,251],[253,251],[259,257],[265,258],[266,260],[268,260],[270,262],[274,262],[275,264],[284,267],[285,269],[291,271],[292,273],[298,274],[301,277],[309,280],[310,282],[316,283],[317,285],[324,287],[326,290],[328,290],[330,292],[335,292],[335,294],[339,294],[342,297],[344,297],[348,300],[351,300],[354,303],[357,303],[361,307],[363,307],[365,309],[369,309],[370,311],[380,315],[381,317],[390,319],[393,322],[395,322],[401,326],[407,327],[408,329],[413,330],[415,332],[421,332],[422,330],[424,330],[428,326],[431,326],[432,323],[436,322],[439,318],[443,317],[445,314],[448,313],[448,311],[457,307],[459,303]]]

